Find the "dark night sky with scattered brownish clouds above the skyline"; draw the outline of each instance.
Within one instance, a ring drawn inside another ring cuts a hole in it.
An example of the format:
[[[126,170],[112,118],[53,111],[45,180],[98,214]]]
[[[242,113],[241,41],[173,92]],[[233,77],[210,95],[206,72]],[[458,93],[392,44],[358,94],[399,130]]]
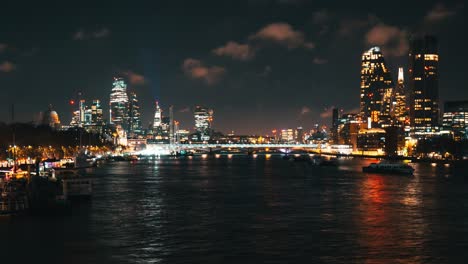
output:
[[[68,124],[79,91],[108,118],[120,74],[145,126],[157,99],[186,129],[195,105],[212,107],[223,132],[309,129],[329,124],[333,106],[357,111],[364,50],[381,46],[396,78],[408,36],[422,32],[439,38],[441,102],[468,100],[464,1],[16,2],[0,11],[5,122],[11,103],[22,122],[53,104]]]

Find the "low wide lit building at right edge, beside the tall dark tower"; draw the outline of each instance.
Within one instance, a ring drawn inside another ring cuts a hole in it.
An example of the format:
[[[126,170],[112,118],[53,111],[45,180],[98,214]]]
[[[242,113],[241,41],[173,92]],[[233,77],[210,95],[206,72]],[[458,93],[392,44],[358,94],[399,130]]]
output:
[[[468,139],[468,101],[445,102],[442,127],[455,141]]]

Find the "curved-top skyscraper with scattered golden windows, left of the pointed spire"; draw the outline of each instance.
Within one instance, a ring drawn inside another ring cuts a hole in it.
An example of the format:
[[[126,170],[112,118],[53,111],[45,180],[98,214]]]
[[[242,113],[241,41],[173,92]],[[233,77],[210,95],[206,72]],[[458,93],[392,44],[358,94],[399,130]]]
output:
[[[391,123],[393,81],[379,47],[362,54],[360,114],[374,125]]]

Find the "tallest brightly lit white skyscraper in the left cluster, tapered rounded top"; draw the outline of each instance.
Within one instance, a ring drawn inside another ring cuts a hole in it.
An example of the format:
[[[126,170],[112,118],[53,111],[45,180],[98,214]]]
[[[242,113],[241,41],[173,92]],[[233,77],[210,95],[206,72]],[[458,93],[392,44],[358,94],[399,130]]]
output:
[[[123,78],[114,77],[110,95],[110,122],[128,129],[128,96],[127,84]]]

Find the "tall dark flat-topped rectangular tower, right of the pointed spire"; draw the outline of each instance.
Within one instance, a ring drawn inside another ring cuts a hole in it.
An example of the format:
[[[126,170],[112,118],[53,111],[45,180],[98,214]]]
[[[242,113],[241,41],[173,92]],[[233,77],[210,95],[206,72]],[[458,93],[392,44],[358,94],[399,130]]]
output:
[[[434,36],[415,37],[409,53],[410,121],[413,132],[439,126],[439,55]]]

